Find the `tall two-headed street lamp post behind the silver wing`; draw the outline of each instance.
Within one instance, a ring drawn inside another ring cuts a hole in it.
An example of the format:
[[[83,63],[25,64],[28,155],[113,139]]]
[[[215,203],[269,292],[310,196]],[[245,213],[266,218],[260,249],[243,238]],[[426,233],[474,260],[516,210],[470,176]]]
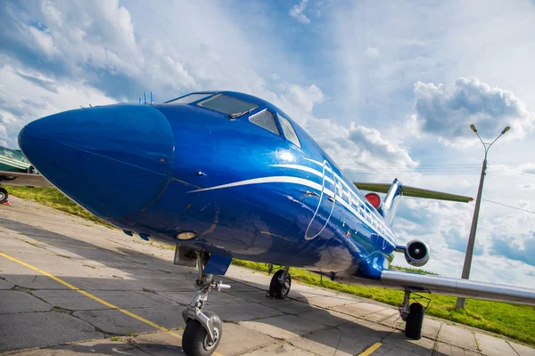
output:
[[[481,205],[481,193],[483,191],[483,182],[485,180],[485,174],[487,173],[487,153],[489,153],[490,146],[494,142],[497,142],[498,139],[503,135],[506,134],[507,131],[511,129],[510,126],[506,126],[501,134],[498,135],[498,137],[490,143],[485,143],[483,140],[481,140],[481,136],[477,133],[477,128],[475,128],[475,125],[470,125],[470,128],[472,131],[477,134],[477,137],[479,137],[481,143],[483,144],[483,148],[485,149],[485,158],[483,159],[483,166],[481,167],[481,178],[480,178],[480,186],[477,190],[477,198],[475,200],[475,208],[473,209],[473,218],[472,218],[472,227],[470,228],[470,236],[468,237],[468,244],[466,246],[466,255],[465,255],[465,264],[463,265],[463,274],[461,276],[462,279],[469,279],[470,278],[470,268],[472,267],[472,256],[473,256],[473,246],[475,245],[475,231],[477,231],[477,220],[479,218],[479,209]],[[465,309],[465,298],[457,298],[457,308]]]

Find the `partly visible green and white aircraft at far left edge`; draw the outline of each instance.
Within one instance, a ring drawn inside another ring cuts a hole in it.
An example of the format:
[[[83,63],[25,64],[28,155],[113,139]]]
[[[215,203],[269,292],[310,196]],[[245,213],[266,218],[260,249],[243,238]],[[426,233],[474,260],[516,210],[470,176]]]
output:
[[[53,187],[45,181],[45,177],[38,174],[34,166],[31,166],[21,150],[11,150],[0,146],[0,185]],[[7,190],[0,187],[0,204],[9,198]]]

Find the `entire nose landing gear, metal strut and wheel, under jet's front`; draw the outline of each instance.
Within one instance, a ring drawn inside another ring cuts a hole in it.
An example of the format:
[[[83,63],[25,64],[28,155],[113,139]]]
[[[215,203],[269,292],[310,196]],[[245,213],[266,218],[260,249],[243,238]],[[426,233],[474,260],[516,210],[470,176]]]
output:
[[[197,255],[197,268],[199,278],[195,279],[197,292],[193,300],[182,312],[186,323],[182,338],[182,348],[188,356],[209,356],[218,348],[223,336],[223,323],[214,312],[203,312],[204,303],[208,299],[211,290],[229,289],[230,286],[221,281],[214,281],[212,274],[204,273],[204,267],[208,262],[209,255],[199,252]]]

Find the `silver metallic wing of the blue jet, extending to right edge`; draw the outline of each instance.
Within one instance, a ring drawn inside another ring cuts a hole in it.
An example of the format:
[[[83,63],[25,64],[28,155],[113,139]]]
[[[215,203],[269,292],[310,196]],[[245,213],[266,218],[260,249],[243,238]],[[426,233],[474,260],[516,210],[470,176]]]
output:
[[[429,274],[385,270],[381,274],[385,287],[437,295],[452,295],[496,302],[535,305],[535,291],[527,288],[452,279]]]

